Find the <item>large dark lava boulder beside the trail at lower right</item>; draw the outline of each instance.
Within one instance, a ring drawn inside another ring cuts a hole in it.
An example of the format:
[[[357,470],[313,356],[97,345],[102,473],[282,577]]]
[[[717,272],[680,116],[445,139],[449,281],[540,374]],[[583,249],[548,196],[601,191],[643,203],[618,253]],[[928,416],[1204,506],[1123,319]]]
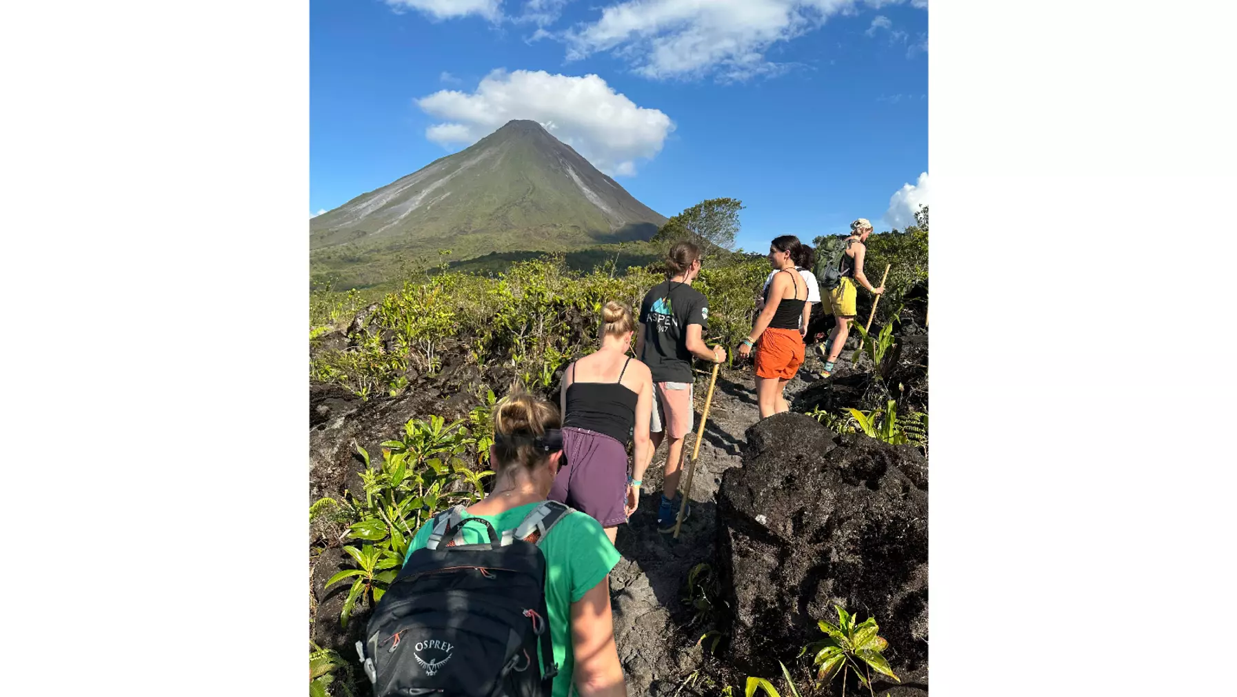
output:
[[[736,667],[779,675],[779,659],[823,636],[818,619],[836,622],[836,603],[876,617],[894,671],[927,680],[927,472],[913,447],[835,436],[793,412],[747,429],[743,466],[717,492]]]

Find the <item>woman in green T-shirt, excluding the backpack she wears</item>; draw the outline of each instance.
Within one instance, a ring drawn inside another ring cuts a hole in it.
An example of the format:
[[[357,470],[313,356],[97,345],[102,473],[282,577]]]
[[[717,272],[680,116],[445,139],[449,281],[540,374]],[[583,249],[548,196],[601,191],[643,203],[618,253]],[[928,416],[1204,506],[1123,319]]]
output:
[[[490,467],[494,491],[468,507],[496,530],[516,528],[548,499],[562,461],[563,435],[553,404],[515,388],[494,408]],[[422,525],[408,545],[408,556],[424,547],[433,533]],[[465,544],[490,541],[484,523],[464,520]],[[546,609],[558,674],[552,697],[626,697],[622,666],[615,646],[610,609],[610,571],[621,556],[601,525],[589,515],[565,514],[539,541],[546,559]],[[407,564],[407,559],[404,560]]]

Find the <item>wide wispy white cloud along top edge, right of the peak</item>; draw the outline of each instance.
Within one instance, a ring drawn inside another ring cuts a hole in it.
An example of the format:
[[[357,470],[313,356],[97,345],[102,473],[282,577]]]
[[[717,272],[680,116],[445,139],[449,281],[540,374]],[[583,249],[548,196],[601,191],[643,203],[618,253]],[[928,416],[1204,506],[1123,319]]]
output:
[[[912,0],[919,1],[919,0]],[[785,70],[766,58],[778,42],[790,41],[835,15],[905,0],[626,0],[605,7],[601,17],[565,32],[568,61],[612,52],[654,79],[745,80]]]

